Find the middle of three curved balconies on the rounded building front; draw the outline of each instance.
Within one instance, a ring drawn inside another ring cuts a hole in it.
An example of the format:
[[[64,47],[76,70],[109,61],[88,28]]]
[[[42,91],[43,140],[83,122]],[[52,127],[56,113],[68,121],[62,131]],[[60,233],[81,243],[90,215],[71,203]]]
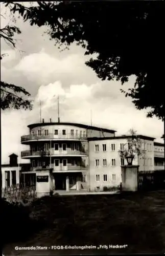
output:
[[[52,149],[51,151],[45,151],[44,152],[45,157],[84,157],[87,156],[87,151],[73,151],[70,148],[67,148],[67,150],[54,150]],[[21,152],[21,158],[33,158],[33,157],[41,157],[41,151],[31,151],[31,150],[26,150]]]

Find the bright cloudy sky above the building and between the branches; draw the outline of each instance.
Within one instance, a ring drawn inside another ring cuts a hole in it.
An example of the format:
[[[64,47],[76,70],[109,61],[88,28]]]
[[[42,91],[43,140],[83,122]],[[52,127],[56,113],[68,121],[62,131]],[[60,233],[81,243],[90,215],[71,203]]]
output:
[[[1,3],[1,28],[13,21]],[[116,135],[128,134],[132,128],[137,134],[151,136],[155,141],[164,133],[164,124],[156,117],[147,118],[147,110],[136,110],[131,98],[126,98],[120,89],[134,86],[135,77],[122,86],[119,81],[102,81],[85,65],[91,56],[75,44],[69,50],[60,51],[55,41],[45,33],[46,27],[38,28],[16,18],[20,35],[15,35],[16,48],[1,40],[1,79],[25,88],[34,101],[32,111],[5,110],[1,112],[2,163],[8,156],[20,156],[28,149],[20,144],[20,136],[28,134],[27,125],[40,120],[57,121],[57,97],[60,99],[61,122],[76,122],[104,127],[117,131]],[[25,160],[20,160],[25,162]]]

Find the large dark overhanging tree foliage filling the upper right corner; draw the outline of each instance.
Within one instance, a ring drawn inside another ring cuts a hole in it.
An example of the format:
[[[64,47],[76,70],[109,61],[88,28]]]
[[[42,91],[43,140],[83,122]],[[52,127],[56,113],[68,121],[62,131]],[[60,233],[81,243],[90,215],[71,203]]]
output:
[[[25,7],[5,3],[31,25],[48,27],[59,47],[76,42],[85,54],[97,54],[86,65],[102,80],[120,80],[135,75],[134,88],[121,92],[130,96],[138,110],[164,120],[163,1],[60,1],[37,2]]]

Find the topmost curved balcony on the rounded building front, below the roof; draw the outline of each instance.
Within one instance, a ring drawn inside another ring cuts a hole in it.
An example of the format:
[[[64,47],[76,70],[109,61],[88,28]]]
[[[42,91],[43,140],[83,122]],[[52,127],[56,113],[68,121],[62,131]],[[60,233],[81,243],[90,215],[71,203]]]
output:
[[[21,143],[23,144],[28,144],[31,141],[50,141],[50,140],[81,140],[81,141],[86,141],[87,136],[86,135],[71,135],[71,134],[59,134],[59,135],[54,135],[54,134],[49,134],[49,135],[37,135],[37,134],[29,134],[29,135],[23,135],[21,136]]]

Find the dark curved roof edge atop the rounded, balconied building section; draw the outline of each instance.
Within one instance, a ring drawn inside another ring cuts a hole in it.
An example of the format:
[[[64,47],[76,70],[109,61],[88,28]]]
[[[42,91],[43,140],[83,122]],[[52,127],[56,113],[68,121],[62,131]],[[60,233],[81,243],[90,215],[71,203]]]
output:
[[[68,122],[62,122],[62,123],[51,123],[51,122],[47,122],[47,123],[33,123],[33,124],[29,124],[28,127],[30,129],[37,127],[37,126],[43,126],[43,125],[72,125],[72,126],[77,126],[80,128],[84,128],[84,129],[89,129],[89,130],[96,130],[96,131],[103,131],[103,132],[108,132],[108,133],[115,133],[116,131],[114,130],[110,130],[110,129],[105,129],[105,128],[101,128],[101,127],[97,127],[97,126],[91,126],[91,125],[87,125],[87,124],[82,124],[82,123],[68,123]]]

